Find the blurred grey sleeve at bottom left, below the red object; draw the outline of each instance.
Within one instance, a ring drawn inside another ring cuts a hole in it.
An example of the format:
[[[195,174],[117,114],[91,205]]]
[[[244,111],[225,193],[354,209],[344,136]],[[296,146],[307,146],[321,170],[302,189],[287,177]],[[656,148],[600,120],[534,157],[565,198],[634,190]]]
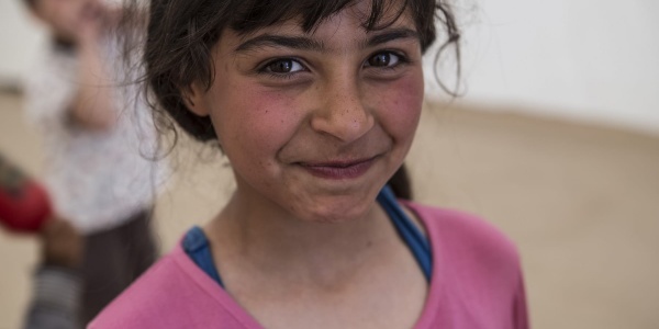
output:
[[[77,272],[56,266],[40,269],[24,329],[78,328],[80,291]]]

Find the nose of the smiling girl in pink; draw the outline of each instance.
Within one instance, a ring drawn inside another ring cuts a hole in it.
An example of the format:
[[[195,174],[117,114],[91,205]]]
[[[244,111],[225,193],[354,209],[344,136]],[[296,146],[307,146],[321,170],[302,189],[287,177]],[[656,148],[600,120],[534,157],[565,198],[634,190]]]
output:
[[[350,143],[373,127],[372,110],[365,104],[357,79],[337,78],[317,91],[324,102],[311,118],[314,131]]]

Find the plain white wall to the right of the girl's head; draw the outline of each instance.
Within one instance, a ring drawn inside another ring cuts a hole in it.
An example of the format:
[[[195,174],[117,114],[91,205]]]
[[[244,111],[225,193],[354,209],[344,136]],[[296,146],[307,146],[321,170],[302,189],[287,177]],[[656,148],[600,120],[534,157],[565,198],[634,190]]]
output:
[[[659,134],[659,1],[457,2],[465,100]]]

